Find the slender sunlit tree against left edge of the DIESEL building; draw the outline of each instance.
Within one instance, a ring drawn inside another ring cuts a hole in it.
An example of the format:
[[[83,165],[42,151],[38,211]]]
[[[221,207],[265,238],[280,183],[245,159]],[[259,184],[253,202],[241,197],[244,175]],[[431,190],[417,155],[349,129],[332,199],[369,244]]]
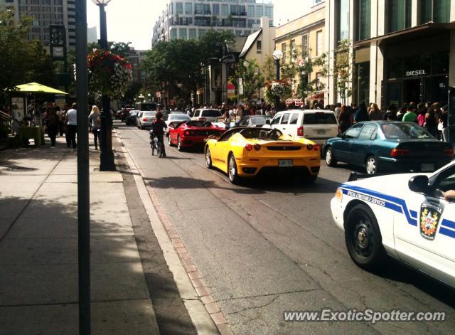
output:
[[[353,53],[351,52],[350,41],[345,39],[338,44],[333,65],[336,90],[345,104],[346,99],[353,94],[352,75]]]

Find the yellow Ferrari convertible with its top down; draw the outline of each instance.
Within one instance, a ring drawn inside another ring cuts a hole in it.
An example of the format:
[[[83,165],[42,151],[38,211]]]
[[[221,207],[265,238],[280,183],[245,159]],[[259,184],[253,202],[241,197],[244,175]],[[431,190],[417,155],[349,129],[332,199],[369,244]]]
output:
[[[301,170],[306,181],[315,181],[321,166],[319,145],[304,137],[290,137],[279,129],[233,128],[205,144],[205,165],[220,169],[232,184],[261,171]]]

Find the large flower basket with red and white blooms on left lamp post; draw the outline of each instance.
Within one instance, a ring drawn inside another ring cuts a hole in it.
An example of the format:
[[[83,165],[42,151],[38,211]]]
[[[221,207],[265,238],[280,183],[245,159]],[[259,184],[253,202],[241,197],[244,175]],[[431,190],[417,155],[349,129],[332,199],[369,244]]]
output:
[[[132,65],[107,50],[93,49],[87,56],[89,90],[95,95],[122,97],[133,82]]]

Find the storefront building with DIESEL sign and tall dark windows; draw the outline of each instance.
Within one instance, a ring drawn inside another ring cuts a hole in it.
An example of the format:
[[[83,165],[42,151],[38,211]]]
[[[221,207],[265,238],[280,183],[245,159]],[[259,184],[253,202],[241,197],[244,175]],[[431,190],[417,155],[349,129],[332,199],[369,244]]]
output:
[[[350,102],[440,102],[455,85],[455,0],[326,1],[331,67],[337,46],[351,41]],[[340,102],[329,80],[330,102]]]

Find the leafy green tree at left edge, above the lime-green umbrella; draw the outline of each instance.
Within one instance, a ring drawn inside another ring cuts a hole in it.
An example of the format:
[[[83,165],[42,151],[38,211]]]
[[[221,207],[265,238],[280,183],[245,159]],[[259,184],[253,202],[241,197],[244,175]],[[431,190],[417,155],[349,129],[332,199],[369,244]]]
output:
[[[36,81],[55,83],[53,62],[38,41],[29,41],[32,19],[18,23],[14,11],[0,11],[0,94],[16,85]]]

